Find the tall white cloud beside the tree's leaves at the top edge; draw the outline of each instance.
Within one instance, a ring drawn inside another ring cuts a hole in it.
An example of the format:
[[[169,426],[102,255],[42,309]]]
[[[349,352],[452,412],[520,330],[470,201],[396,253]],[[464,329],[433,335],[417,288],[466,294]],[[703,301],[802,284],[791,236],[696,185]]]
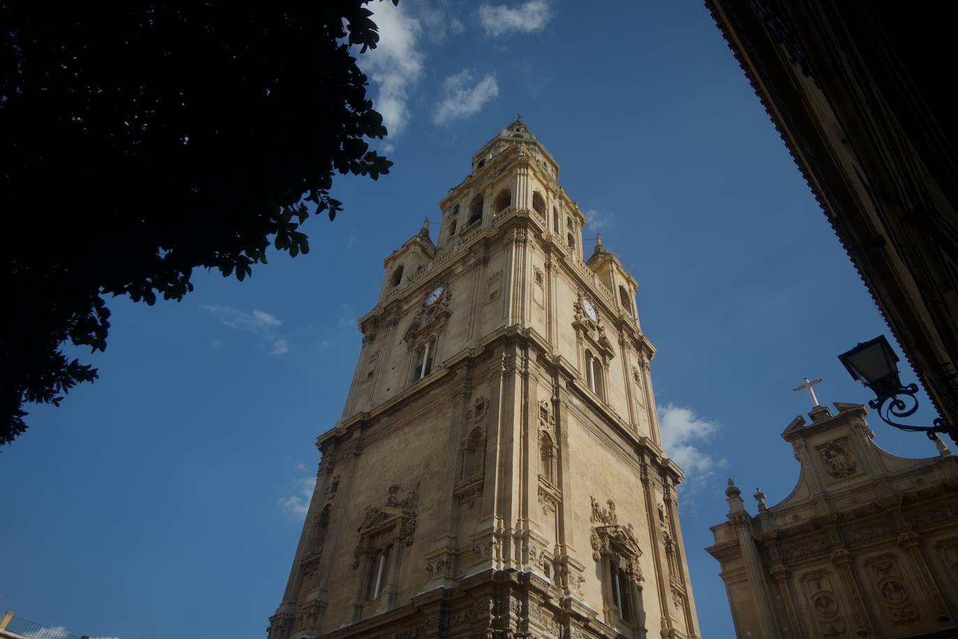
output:
[[[373,105],[382,114],[390,137],[395,138],[409,122],[409,92],[422,77],[422,26],[403,11],[402,5],[379,6],[383,10],[376,11],[372,18],[378,27],[379,42],[376,49],[358,57],[358,64],[376,82],[379,92]]]

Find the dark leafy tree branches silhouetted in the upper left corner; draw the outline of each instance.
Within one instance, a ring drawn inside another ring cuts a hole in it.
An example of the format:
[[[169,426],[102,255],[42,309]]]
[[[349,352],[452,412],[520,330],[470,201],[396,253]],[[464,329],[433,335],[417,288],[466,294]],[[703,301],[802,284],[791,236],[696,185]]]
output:
[[[97,377],[61,346],[103,351],[104,296],[306,253],[335,171],[389,171],[352,55],[378,41],[369,1],[0,4],[0,445],[25,402]]]

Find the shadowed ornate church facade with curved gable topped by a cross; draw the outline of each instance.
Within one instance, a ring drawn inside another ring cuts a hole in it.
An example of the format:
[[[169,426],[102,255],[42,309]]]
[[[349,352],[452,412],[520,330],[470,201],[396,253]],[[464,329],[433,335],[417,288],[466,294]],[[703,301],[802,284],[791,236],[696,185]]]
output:
[[[782,434],[801,466],[772,507],[729,480],[712,527],[739,637],[958,636],[958,458],[878,448],[859,404],[815,406]]]

